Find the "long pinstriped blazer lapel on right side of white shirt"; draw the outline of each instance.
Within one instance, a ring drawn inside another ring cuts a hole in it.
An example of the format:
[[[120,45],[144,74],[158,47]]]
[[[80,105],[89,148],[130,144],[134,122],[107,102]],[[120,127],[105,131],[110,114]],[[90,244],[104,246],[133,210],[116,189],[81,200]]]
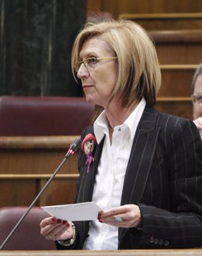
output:
[[[121,205],[140,202],[155,154],[160,128],[156,129],[158,112],[153,108],[145,108],[134,137],[134,144],[127,165]],[[127,229],[120,229],[124,236]]]

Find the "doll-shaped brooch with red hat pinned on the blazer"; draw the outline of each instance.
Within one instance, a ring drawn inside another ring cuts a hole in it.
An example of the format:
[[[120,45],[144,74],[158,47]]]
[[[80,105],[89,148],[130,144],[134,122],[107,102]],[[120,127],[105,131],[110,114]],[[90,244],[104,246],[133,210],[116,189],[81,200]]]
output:
[[[94,162],[94,158],[92,156],[92,152],[96,145],[96,137],[94,137],[91,133],[85,136],[82,141],[82,151],[85,152],[86,155],[86,162],[85,165],[87,166],[87,173],[89,173],[90,165]]]

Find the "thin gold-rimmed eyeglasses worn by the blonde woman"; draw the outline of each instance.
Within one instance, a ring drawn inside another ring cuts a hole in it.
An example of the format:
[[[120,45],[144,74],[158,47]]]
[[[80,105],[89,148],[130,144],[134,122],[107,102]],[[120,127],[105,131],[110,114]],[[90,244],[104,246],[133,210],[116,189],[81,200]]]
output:
[[[103,57],[103,58],[90,57],[90,58],[82,60],[81,62],[75,62],[74,69],[75,69],[75,72],[78,73],[78,69],[80,69],[82,64],[84,64],[86,69],[88,69],[88,67],[90,69],[94,69],[96,67],[96,64],[99,61],[101,61],[101,60],[113,60],[113,59],[117,59],[117,57]]]

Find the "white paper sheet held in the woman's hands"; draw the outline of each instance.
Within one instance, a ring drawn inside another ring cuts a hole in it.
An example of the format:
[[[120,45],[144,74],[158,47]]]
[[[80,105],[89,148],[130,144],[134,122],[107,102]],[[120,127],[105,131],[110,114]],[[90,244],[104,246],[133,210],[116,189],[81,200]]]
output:
[[[42,206],[45,212],[57,219],[82,221],[97,219],[101,208],[95,202]]]

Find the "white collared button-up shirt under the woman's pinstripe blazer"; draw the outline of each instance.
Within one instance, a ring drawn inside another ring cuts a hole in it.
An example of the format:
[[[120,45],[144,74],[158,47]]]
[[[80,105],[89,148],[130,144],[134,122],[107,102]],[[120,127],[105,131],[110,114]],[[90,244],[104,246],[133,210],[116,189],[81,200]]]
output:
[[[111,144],[105,111],[99,115],[94,123],[97,143],[99,144],[104,136],[105,140],[92,201],[95,201],[103,210],[120,205],[127,162],[131,154],[134,134],[145,105],[146,102],[143,98],[125,122],[114,127]],[[83,250],[117,250],[117,247],[118,228],[100,223],[98,220],[92,221],[89,237],[85,240]]]

